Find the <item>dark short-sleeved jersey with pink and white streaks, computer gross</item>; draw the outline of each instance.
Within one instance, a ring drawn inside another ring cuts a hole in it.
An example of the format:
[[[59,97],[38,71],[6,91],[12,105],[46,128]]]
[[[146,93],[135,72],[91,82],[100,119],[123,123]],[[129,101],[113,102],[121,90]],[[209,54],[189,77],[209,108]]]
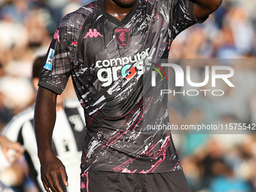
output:
[[[143,83],[144,61],[167,56],[176,35],[197,23],[193,8],[188,0],[138,0],[119,21],[99,0],[62,19],[39,86],[60,94],[72,77],[87,125],[82,172],[182,169],[169,130],[144,133],[145,121],[169,123],[167,98],[155,94],[163,87]]]

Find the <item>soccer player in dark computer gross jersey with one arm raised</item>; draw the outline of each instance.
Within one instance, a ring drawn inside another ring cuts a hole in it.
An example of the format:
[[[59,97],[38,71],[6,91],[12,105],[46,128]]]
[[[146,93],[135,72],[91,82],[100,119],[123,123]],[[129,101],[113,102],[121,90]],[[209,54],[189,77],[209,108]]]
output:
[[[169,131],[166,96],[150,91],[145,59],[167,58],[173,39],[201,23],[221,0],[96,0],[59,23],[41,72],[35,133],[48,192],[68,185],[51,136],[56,96],[70,76],[84,108],[81,191],[190,191]],[[157,95],[158,94],[158,95]],[[145,173],[145,174],[142,174]]]

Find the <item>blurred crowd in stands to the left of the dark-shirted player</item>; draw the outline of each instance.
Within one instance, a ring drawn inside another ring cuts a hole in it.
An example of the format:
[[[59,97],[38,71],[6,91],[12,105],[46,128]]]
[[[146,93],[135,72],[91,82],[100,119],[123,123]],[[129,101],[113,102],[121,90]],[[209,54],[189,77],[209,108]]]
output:
[[[87,3],[0,1],[0,128],[34,102],[30,81],[32,61],[47,52],[59,20]]]

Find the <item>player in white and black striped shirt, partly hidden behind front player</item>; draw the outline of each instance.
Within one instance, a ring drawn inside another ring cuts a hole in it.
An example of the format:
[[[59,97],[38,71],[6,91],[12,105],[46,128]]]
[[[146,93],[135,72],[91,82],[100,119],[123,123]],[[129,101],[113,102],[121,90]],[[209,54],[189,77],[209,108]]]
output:
[[[45,56],[38,57],[33,65],[32,84],[35,90],[38,89],[39,75],[44,59]],[[74,103],[75,105],[73,105]],[[29,165],[29,176],[35,182],[38,190],[43,191],[44,186],[41,182],[40,162],[37,157],[35,130],[33,128],[34,111],[35,105],[32,105],[13,117],[2,130],[0,139],[4,140],[6,137],[12,142],[19,142],[23,146],[26,161]],[[81,161],[85,136],[83,109],[79,102],[77,105],[72,99],[63,101],[63,96],[60,96],[57,99],[56,111],[55,130],[51,145],[53,146],[54,154],[66,165],[67,172],[71,176],[69,187],[62,184],[62,190],[73,192],[74,190],[79,190],[80,184],[79,174],[81,171],[77,165]]]

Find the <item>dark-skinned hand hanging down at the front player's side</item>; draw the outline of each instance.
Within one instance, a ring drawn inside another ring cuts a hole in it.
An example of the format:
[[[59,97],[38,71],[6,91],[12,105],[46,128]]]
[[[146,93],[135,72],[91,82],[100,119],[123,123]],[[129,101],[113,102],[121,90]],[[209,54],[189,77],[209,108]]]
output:
[[[65,166],[54,155],[50,154],[40,159],[41,162],[41,181],[44,184],[44,189],[47,192],[63,192],[59,185],[58,174],[62,177],[62,182],[68,184],[68,175],[66,174]]]

